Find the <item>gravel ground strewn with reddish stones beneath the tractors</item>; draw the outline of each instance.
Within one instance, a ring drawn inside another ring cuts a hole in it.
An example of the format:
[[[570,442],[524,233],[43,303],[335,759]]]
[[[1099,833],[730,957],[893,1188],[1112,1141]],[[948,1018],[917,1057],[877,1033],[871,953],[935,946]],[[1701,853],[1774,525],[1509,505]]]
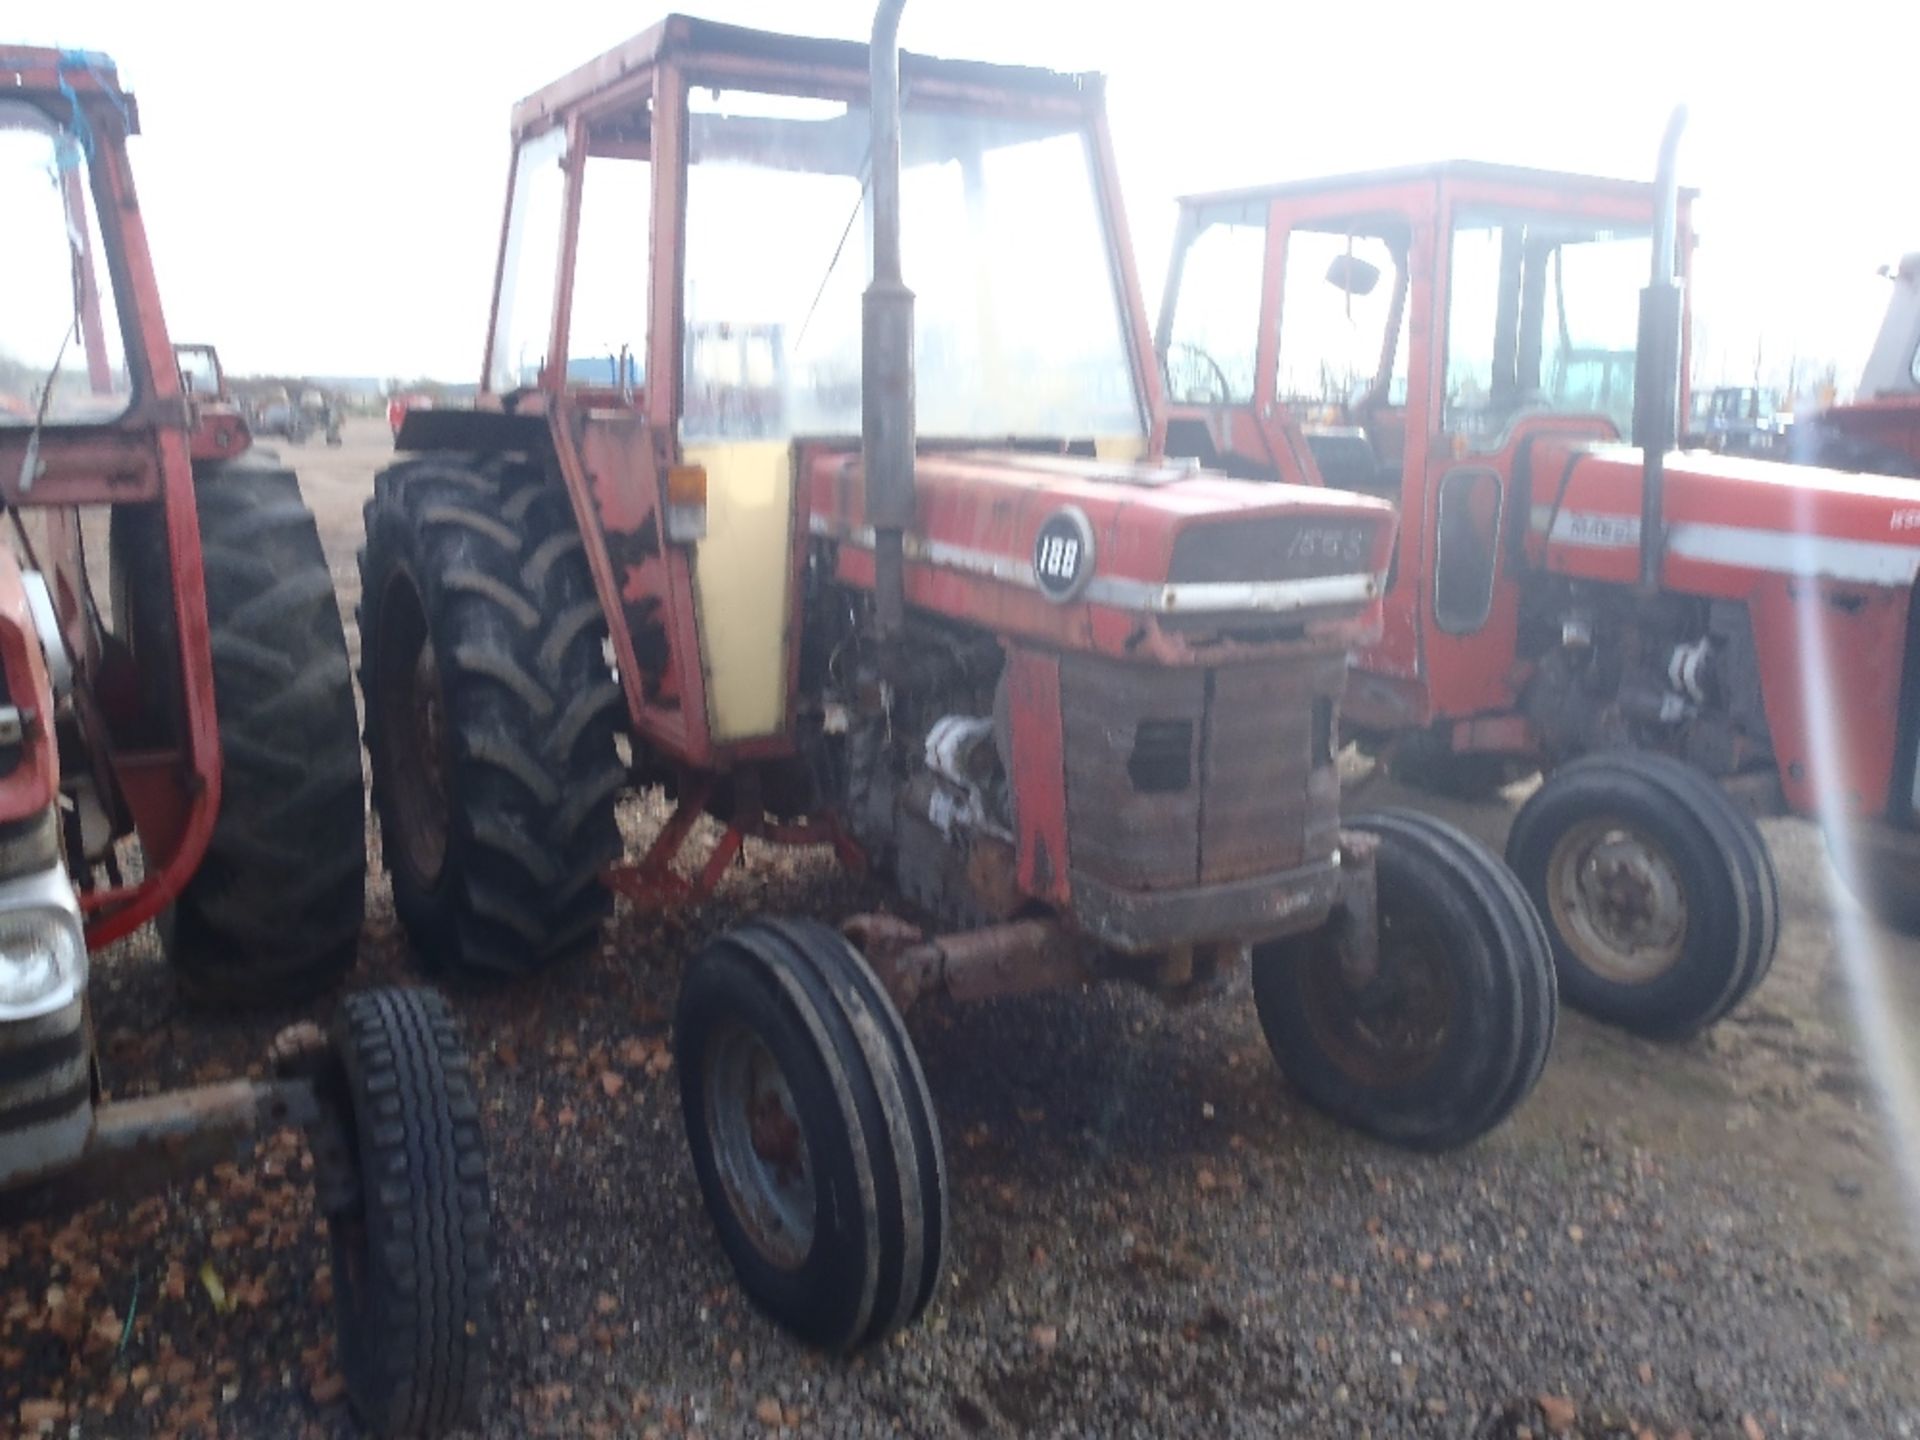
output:
[[[349,603],[384,453],[363,426],[294,455]],[[1444,808],[1498,843],[1513,801]],[[624,824],[632,841],[657,816],[632,803]],[[879,897],[824,856],[751,849],[699,912],[622,906],[591,964],[455,996],[501,1252],[482,1434],[1914,1434],[1920,1271],[1847,1021],[1847,902],[1805,826],[1768,841],[1788,920],[1740,1016],[1686,1046],[1569,1016],[1532,1100],[1452,1156],[1304,1108],[1244,983],[1187,1010],[1121,989],[922,1008],[952,1263],[929,1315],[854,1361],[735,1294],[664,1016],[680,962],[732,920]],[[1872,941],[1887,1004],[1920,1018],[1920,947]],[[407,973],[376,876],[355,983]],[[150,937],[96,975],[121,1094],[259,1073],[288,1020],[182,1010]],[[278,1137],[146,1204],[0,1233],[0,1427],[353,1434],[303,1165]]]

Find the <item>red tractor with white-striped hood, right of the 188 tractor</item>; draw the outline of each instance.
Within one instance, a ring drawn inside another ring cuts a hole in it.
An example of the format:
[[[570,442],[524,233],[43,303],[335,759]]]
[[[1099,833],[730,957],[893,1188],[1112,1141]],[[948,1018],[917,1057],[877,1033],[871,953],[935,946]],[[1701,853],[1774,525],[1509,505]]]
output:
[[[1753,814],[1818,816],[1889,899],[1920,874],[1920,499],[1672,449],[1680,123],[1655,184],[1455,161],[1185,200],[1156,334],[1173,453],[1400,505],[1348,733],[1436,789],[1544,766],[1507,858],[1561,993],[1665,1037],[1768,968]]]

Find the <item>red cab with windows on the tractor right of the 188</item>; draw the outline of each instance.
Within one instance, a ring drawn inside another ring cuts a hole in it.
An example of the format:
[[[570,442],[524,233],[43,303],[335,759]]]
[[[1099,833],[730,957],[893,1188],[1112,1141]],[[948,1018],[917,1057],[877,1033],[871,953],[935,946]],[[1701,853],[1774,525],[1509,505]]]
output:
[[[1498,703],[1519,624],[1498,541],[1542,499],[1517,465],[1542,436],[1632,432],[1653,228],[1651,184],[1469,161],[1181,202],[1169,451],[1400,507],[1356,724]]]

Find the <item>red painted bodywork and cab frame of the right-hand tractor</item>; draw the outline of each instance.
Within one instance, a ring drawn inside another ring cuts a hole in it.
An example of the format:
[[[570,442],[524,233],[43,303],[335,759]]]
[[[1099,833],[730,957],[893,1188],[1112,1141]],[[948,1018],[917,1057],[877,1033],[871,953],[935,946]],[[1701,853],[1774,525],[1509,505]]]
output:
[[[1692,269],[1690,200],[1682,192],[1682,271]],[[1365,415],[1342,417],[1350,424],[1384,422],[1404,436],[1398,576],[1384,597],[1384,632],[1379,643],[1357,657],[1346,716],[1386,732],[1452,718],[1459,749],[1536,753],[1538,739],[1515,708],[1528,678],[1515,655],[1523,578],[1515,572],[1515,555],[1519,553],[1523,568],[1544,566],[1578,580],[1636,584],[1642,453],[1615,444],[1613,424],[1601,417],[1523,419],[1484,451],[1469,451],[1442,430],[1444,372],[1436,349],[1446,332],[1448,236],[1453,211],[1461,205],[1515,205],[1647,225],[1653,219],[1653,188],[1450,163],[1183,202],[1188,213],[1248,204],[1267,207],[1261,296],[1258,301],[1248,296],[1250,309],[1258,303],[1260,321],[1256,397],[1273,394],[1288,230],[1309,221],[1390,215],[1411,236],[1407,403],[1394,411],[1369,409]],[[1682,336],[1680,372],[1686,374],[1686,328]],[[1914,445],[1914,453],[1920,453],[1920,405],[1866,401],[1851,411],[1853,419],[1841,424],[1884,426],[1874,432],[1876,438]],[[1686,413],[1684,394],[1680,413]],[[1300,478],[1286,461],[1304,455],[1304,440],[1294,419],[1271,401],[1179,407],[1169,411],[1169,419],[1200,422],[1223,457],[1254,472]],[[1306,478],[1317,482],[1311,457],[1304,457],[1304,467]],[[1463,467],[1488,468],[1500,476],[1505,509],[1492,612],[1476,632],[1450,636],[1434,618],[1434,495],[1442,476]],[[1912,484],[1692,451],[1668,455],[1665,474],[1668,549],[1663,557],[1663,586],[1672,593],[1743,601],[1749,607],[1766,720],[1788,804],[1799,812],[1812,810],[1816,791],[1832,778],[1832,793],[1847,797],[1860,814],[1884,814],[1889,806],[1910,586],[1816,580],[1820,566],[1807,561],[1805,553],[1795,559],[1793,543],[1795,538],[1834,540],[1841,541],[1839,553],[1847,553],[1845,541],[1895,547],[1891,566],[1897,572],[1903,564],[1899,547],[1914,547],[1920,561],[1920,499],[1914,497]],[[1555,495],[1569,520],[1578,516],[1588,528],[1586,543],[1572,543],[1572,538],[1548,543],[1544,532],[1534,528],[1528,509],[1551,507]],[[1607,538],[1607,524],[1588,516],[1613,516],[1615,543],[1596,543]],[[1515,524],[1526,528],[1517,549]],[[1703,538],[1701,526],[1711,526],[1713,534]],[[1707,540],[1726,541],[1728,528],[1741,532],[1732,536],[1740,557],[1697,553]],[[1761,534],[1751,538],[1743,534],[1747,530]],[[1686,543],[1676,543],[1682,536]],[[1826,753],[1812,743],[1812,728],[1822,707],[1832,712],[1839,697],[1845,697],[1845,724],[1834,728],[1841,741],[1839,753]]]

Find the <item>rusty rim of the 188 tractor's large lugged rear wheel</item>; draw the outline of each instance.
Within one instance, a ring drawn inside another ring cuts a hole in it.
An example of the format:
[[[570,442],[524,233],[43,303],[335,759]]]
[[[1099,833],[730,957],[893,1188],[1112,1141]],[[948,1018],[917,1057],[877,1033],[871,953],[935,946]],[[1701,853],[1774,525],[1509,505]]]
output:
[[[447,862],[445,701],[420,593],[405,576],[380,599],[374,724],[386,753],[388,845],[422,889]]]

